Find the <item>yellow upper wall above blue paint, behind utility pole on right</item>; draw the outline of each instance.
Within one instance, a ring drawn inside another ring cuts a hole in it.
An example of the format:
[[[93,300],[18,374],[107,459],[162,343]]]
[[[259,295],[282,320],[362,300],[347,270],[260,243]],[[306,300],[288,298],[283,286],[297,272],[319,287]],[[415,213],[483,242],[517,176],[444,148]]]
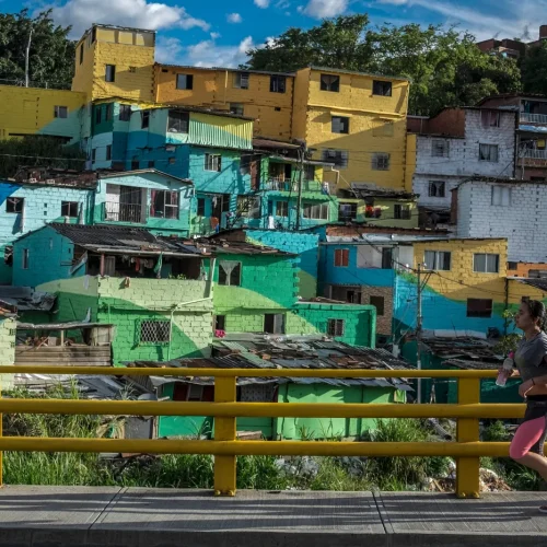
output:
[[[414,244],[414,267],[424,261],[426,251],[449,251],[452,253],[450,271],[431,275],[428,286],[451,300],[491,299],[503,303],[508,259],[507,240],[449,240]],[[475,253],[500,255],[498,274],[478,274],[473,271]],[[464,284],[462,284],[464,283]]]

